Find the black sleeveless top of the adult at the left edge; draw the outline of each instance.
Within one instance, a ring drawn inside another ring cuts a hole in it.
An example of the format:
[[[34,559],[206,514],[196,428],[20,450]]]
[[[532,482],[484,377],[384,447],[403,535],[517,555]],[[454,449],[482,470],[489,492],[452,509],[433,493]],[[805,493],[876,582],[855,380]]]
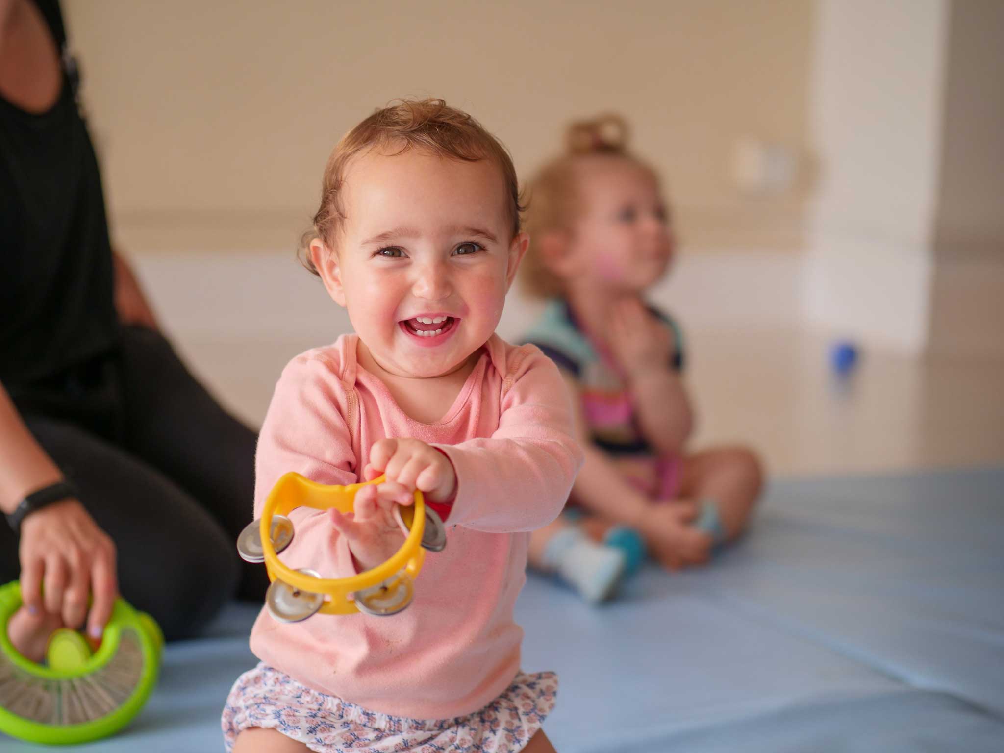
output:
[[[62,59],[46,112],[0,96],[0,383],[16,388],[114,348],[111,244],[56,0],[36,0]]]

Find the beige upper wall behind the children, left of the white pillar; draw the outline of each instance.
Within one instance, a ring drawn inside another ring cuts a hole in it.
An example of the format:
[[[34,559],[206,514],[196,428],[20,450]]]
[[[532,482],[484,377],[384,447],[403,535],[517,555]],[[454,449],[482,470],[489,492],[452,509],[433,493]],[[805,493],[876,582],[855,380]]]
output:
[[[744,138],[804,150],[809,0],[64,0],[134,251],[285,248],[338,137],[389,99],[469,109],[523,175],[616,109],[691,248],[797,248],[804,187],[748,198]]]

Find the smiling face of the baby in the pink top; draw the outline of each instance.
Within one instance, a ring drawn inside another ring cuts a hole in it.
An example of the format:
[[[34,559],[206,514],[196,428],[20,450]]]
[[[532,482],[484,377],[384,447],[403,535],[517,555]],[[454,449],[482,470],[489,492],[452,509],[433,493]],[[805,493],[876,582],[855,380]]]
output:
[[[527,246],[510,241],[499,168],[373,151],[351,161],[342,191],[337,250],[317,266],[373,360],[400,376],[464,365],[495,331]]]

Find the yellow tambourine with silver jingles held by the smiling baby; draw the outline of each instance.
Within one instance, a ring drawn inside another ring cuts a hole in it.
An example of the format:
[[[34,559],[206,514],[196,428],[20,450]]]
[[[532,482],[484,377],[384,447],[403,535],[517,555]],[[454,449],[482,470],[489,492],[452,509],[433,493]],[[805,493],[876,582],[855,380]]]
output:
[[[237,539],[237,550],[249,562],[264,562],[272,581],[266,604],[272,616],[283,622],[298,622],[318,611],[324,614],[396,614],[412,602],[414,582],[422,570],[425,548],[442,550],[446,528],[439,515],[426,507],[422,492],[415,504],[396,506],[395,519],[405,533],[405,542],[386,562],[365,572],[344,578],[324,578],[313,570],[293,570],[278,553],[293,540],[289,512],[297,507],[351,512],[355,492],[380,484],[384,476],[362,484],[328,486],[298,473],[283,475],[265,500],[261,518],[250,523]]]

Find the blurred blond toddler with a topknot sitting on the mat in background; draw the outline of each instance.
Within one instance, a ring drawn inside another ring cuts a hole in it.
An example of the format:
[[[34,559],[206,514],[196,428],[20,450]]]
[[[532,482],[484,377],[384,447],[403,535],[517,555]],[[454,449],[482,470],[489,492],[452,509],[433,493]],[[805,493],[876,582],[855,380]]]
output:
[[[671,213],[620,118],[571,127],[566,154],[530,184],[527,227],[522,282],[548,303],[524,339],[561,368],[586,458],[576,514],[535,531],[530,560],[600,600],[642,548],[679,569],[739,536],[760,463],[744,447],[690,447],[681,330],[645,298],[673,257]]]

